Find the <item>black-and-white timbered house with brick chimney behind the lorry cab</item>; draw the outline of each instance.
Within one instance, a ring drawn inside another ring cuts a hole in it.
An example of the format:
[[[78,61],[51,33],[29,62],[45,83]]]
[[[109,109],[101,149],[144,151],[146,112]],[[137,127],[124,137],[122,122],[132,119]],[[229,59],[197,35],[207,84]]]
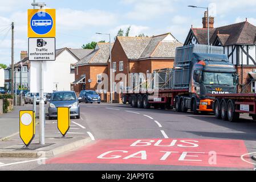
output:
[[[184,46],[208,44],[207,13],[202,18],[203,28],[191,28]],[[239,92],[256,92],[256,27],[245,22],[214,28],[214,18],[209,19],[210,44],[224,47],[224,54],[237,68]]]

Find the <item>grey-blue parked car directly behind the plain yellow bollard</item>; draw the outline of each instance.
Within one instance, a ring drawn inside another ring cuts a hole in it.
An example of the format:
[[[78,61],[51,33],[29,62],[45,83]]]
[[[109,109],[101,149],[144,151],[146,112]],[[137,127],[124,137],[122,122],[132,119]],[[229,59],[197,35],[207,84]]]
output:
[[[57,117],[57,107],[70,107],[70,116],[80,118],[80,105],[74,91],[61,91],[51,94],[48,118]]]

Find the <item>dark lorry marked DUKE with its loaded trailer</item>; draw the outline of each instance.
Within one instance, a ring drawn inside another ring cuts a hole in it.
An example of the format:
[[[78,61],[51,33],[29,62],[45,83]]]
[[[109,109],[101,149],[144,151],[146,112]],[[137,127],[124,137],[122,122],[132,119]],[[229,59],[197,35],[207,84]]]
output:
[[[147,74],[147,78],[141,78],[141,74],[133,76],[132,85],[123,92],[121,100],[123,104],[129,102],[132,107],[145,109],[153,106],[175,108],[178,112],[191,110],[194,114],[216,112],[220,118],[222,103],[228,105],[228,101],[219,96],[236,94],[239,78],[223,53],[223,47],[217,46],[210,46],[210,53],[208,46],[200,44],[178,47],[173,68],[156,70],[152,76]]]

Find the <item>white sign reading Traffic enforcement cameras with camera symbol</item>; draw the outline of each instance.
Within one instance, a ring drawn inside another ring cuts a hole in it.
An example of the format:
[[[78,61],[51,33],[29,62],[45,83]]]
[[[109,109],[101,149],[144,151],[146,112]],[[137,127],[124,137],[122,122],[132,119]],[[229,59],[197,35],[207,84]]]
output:
[[[54,61],[55,38],[29,38],[30,61]]]

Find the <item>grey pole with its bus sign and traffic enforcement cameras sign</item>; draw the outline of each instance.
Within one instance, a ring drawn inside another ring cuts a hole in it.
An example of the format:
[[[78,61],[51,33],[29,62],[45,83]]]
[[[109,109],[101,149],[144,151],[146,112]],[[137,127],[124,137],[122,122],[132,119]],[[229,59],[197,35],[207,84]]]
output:
[[[40,102],[39,120],[40,144],[45,144],[44,127],[44,61],[55,61],[55,9],[43,9],[44,3],[32,3],[32,6],[39,6],[40,9],[31,9],[28,14],[28,37],[29,37],[29,60],[40,61]]]

